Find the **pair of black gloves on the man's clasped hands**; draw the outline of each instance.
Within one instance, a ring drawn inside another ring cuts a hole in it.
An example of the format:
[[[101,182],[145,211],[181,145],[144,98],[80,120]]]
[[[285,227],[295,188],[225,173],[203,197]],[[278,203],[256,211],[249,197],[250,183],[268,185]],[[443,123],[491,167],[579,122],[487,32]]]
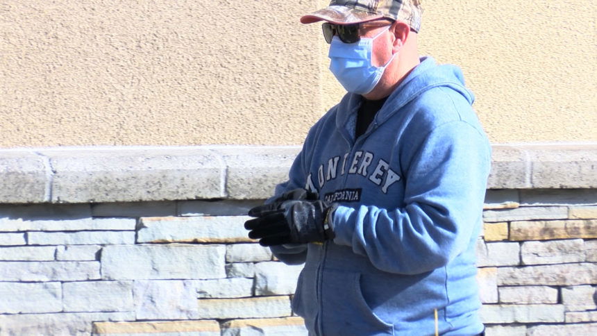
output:
[[[262,246],[324,242],[335,237],[330,220],[335,205],[301,199],[283,201],[272,210],[256,208],[249,215],[258,218],[246,221],[244,228],[251,230],[249,238],[258,239]]]

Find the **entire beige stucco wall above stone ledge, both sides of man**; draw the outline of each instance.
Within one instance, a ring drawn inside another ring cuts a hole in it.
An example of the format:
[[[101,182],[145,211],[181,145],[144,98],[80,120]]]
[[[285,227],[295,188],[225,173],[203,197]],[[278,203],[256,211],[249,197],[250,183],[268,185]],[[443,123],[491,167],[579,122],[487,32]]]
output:
[[[300,144],[342,90],[327,1],[0,3],[0,147]],[[462,66],[492,142],[597,140],[590,1],[423,1],[421,53]]]

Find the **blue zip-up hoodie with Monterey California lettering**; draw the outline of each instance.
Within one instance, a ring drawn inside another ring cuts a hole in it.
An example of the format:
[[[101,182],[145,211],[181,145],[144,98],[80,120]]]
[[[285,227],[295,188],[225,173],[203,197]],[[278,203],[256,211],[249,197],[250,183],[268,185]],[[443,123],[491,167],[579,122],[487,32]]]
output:
[[[336,237],[274,246],[305,262],[292,308],[310,335],[476,335],[475,246],[490,146],[462,72],[432,58],[354,138],[362,97],[346,94],[309,131],[289,180],[338,203]]]

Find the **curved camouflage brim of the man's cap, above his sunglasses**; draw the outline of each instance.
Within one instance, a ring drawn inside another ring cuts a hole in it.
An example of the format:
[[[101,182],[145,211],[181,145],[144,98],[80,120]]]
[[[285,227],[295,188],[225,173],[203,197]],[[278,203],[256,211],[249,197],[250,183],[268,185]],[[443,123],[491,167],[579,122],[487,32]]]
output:
[[[345,6],[328,6],[317,12],[312,12],[301,17],[301,24],[312,24],[319,21],[327,21],[333,24],[358,24],[381,19],[383,15],[371,12],[364,12]]]

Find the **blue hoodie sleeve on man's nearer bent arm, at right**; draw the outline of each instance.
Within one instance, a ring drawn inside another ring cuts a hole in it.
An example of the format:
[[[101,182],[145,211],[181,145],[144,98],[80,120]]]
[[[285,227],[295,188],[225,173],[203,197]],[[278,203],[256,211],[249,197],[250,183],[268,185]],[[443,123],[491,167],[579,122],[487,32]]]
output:
[[[489,151],[485,133],[464,121],[438,126],[407,156],[405,206],[340,206],[333,217],[334,242],[397,274],[446,265],[478,233]]]

